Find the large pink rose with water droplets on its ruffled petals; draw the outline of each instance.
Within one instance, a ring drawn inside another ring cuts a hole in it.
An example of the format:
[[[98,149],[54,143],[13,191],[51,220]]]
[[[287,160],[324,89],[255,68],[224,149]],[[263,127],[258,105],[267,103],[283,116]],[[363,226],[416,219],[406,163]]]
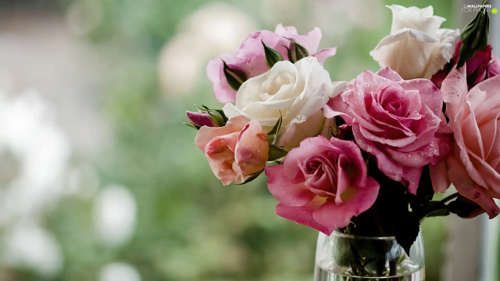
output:
[[[403,80],[390,68],[363,71],[340,98],[323,107],[327,118],[341,115],[354,140],[376,157],[378,168],[415,194],[422,166],[435,163],[447,141],[435,134],[442,97],[427,79]]]

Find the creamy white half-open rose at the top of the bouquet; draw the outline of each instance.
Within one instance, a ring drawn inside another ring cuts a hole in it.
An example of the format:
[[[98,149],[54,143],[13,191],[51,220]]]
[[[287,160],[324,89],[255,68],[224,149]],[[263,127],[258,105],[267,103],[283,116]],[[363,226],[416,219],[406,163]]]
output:
[[[390,34],[370,55],[381,67],[389,66],[403,79],[430,79],[453,56],[460,30],[439,28],[446,19],[432,15],[432,6],[387,7],[392,10]]]

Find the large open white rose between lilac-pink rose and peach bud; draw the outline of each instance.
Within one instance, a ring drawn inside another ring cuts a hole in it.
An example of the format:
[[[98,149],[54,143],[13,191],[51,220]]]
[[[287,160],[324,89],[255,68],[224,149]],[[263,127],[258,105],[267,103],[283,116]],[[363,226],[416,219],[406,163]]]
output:
[[[278,145],[291,149],[321,133],[325,126],[321,108],[344,88],[345,82],[331,83],[328,71],[315,57],[304,57],[295,64],[278,61],[241,84],[235,104],[226,103],[222,109],[228,118],[243,115],[257,120],[264,131],[272,128],[281,111]]]

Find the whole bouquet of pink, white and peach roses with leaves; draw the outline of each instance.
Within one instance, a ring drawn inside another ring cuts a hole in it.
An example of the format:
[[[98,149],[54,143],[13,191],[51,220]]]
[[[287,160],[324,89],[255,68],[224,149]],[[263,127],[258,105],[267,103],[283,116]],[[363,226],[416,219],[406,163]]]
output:
[[[388,6],[376,72],[330,80],[321,31],[278,24],[249,34],[207,74],[222,109],[187,111],[195,144],[224,185],[262,172],[276,213],[315,228],[395,236],[408,252],[429,216],[500,209],[500,61],[488,15],[460,32],[432,6]],[[452,183],[457,193],[432,200]]]

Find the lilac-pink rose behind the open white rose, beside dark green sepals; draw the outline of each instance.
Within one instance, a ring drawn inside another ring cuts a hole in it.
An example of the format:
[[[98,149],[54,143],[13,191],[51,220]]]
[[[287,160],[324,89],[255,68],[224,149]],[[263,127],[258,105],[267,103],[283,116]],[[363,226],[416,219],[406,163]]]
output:
[[[274,32],[269,30],[255,31],[243,39],[239,49],[233,54],[225,53],[208,62],[206,74],[213,83],[215,98],[219,102],[234,102],[236,100],[236,91],[229,86],[225,78],[222,60],[227,63],[229,68],[242,71],[246,78],[251,78],[269,70],[265,64],[261,40],[267,46],[277,50],[285,60],[288,60],[288,51],[285,46],[290,46],[289,39],[304,46],[310,55],[317,58],[319,63],[323,63],[326,58],[335,54],[334,47],[316,52],[321,40],[321,30],[318,27],[304,35],[298,35],[295,27],[283,27],[281,23],[276,26]]]

